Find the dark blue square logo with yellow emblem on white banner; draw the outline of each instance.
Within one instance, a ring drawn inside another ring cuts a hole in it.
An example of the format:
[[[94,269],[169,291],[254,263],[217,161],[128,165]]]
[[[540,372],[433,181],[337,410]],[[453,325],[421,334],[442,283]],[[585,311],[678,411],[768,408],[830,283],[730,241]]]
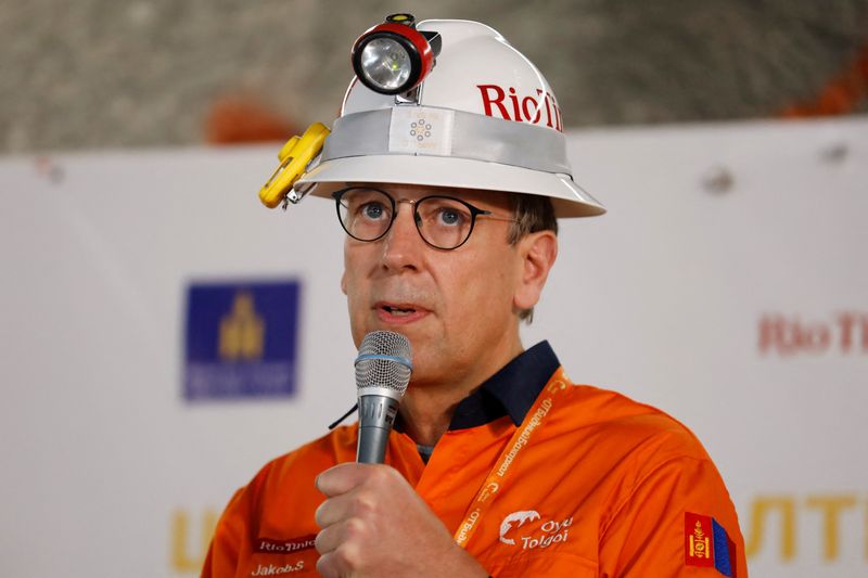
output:
[[[296,281],[191,284],[184,397],[294,394],[299,291]]]

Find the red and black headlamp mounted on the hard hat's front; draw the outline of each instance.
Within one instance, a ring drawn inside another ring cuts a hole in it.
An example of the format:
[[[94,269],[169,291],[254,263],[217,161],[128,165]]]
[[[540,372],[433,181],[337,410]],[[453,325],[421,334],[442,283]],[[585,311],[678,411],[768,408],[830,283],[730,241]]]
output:
[[[438,33],[417,30],[411,14],[392,14],[356,40],[350,57],[366,87],[381,94],[401,94],[424,80],[439,51]]]

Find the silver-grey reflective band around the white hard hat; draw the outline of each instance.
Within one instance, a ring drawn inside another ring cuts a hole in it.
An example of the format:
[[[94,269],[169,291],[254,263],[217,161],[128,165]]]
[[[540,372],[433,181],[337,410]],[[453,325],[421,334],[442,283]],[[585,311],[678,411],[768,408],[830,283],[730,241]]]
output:
[[[368,155],[449,156],[571,175],[561,132],[430,106],[395,106],[342,116],[322,162]]]

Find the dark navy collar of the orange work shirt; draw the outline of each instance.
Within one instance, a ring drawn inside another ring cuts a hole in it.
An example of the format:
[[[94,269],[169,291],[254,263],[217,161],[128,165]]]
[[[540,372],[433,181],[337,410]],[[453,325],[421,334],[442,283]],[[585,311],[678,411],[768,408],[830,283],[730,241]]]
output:
[[[516,426],[561,365],[548,342],[540,342],[515,357],[465,397],[455,410],[449,429],[485,425],[509,415]]]

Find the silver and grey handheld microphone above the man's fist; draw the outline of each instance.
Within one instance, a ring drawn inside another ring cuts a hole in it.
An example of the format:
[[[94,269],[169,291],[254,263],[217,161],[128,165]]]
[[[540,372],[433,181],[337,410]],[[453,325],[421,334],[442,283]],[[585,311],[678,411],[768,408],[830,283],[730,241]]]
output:
[[[359,394],[359,445],[356,461],[381,464],[400,398],[413,370],[410,342],[393,331],[372,331],[356,358]]]

